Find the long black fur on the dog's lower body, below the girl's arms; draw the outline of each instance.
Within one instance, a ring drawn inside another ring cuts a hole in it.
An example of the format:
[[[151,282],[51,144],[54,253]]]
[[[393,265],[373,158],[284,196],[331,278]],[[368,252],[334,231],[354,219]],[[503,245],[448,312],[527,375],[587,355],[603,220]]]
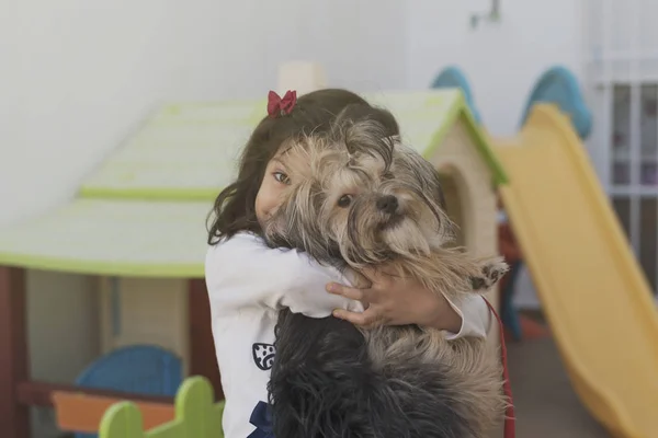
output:
[[[286,309],[275,346],[269,391],[276,438],[472,436],[440,365],[407,361],[375,370],[362,333],[349,322]]]

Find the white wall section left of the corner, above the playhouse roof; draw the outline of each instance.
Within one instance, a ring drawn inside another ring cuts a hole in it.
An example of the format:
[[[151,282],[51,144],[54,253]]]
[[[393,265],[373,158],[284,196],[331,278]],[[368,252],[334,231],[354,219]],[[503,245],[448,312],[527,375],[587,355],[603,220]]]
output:
[[[72,196],[158,102],[265,96],[295,58],[337,85],[401,85],[404,13],[394,0],[5,0],[0,226]]]

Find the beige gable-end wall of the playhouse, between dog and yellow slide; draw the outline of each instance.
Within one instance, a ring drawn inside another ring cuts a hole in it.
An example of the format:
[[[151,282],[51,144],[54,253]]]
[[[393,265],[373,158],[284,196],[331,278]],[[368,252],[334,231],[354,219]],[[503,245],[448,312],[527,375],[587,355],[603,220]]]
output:
[[[496,194],[492,191],[492,174],[479,155],[472,136],[462,122],[450,128],[436,148],[432,164],[456,183],[456,191],[446,192],[449,214],[461,216],[460,233],[464,245],[478,256],[498,254],[498,228]],[[449,187],[450,188],[450,187]],[[458,196],[458,200],[454,199]],[[453,197],[453,198],[451,198]],[[461,211],[450,211],[450,206],[461,205]],[[498,288],[487,292],[487,299],[498,308]],[[489,337],[491,345],[499,342],[498,332]]]

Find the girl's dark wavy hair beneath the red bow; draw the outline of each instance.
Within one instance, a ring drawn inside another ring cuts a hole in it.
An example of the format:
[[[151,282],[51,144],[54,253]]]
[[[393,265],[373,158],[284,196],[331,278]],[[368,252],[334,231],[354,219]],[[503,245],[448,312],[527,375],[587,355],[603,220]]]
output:
[[[304,94],[291,114],[265,117],[251,134],[240,155],[237,180],[215,199],[207,243],[216,244],[240,231],[260,233],[254,205],[268,163],[285,140],[302,134],[329,132],[337,118],[374,119],[388,135],[399,135],[397,122],[389,112],[371,106],[350,91],[325,89]]]

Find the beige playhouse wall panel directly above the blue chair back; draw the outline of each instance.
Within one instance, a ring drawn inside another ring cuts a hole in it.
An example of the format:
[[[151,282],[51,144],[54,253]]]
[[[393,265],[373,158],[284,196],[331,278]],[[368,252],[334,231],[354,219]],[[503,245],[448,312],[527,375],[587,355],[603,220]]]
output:
[[[185,279],[101,277],[101,348],[149,344],[190,364],[188,281]]]

